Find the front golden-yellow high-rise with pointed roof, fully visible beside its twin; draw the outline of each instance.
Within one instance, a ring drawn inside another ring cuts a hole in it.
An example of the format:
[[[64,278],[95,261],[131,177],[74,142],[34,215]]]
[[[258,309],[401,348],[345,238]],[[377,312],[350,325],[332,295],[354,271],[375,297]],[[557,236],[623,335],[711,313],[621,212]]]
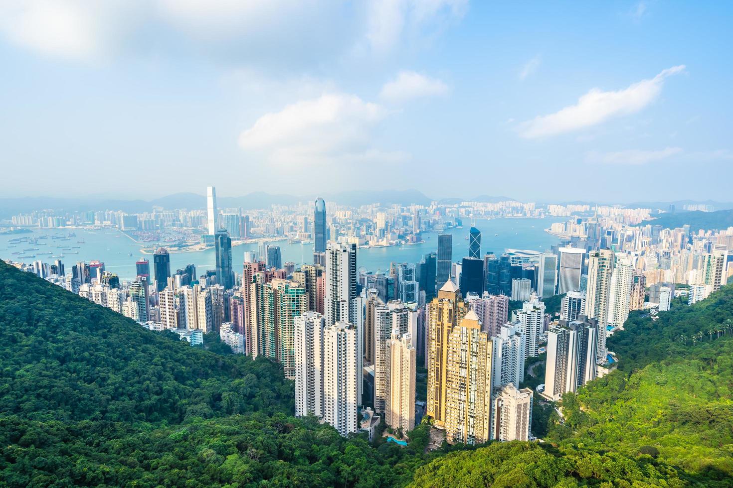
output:
[[[469,310],[448,337],[445,388],[446,440],[480,444],[491,432],[492,342]]]

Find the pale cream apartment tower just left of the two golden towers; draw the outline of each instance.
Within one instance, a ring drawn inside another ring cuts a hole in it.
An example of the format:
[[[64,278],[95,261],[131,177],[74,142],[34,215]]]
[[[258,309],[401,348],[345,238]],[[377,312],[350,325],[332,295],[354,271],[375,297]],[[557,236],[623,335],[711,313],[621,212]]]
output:
[[[415,428],[415,371],[412,337],[393,331],[386,343],[384,421],[405,433]]]

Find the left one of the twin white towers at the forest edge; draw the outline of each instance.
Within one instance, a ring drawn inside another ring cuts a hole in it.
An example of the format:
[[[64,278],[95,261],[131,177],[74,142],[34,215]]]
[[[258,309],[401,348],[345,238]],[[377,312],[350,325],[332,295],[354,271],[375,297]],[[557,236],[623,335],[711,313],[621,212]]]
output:
[[[325,318],[307,312],[295,318],[295,415],[323,416]]]

